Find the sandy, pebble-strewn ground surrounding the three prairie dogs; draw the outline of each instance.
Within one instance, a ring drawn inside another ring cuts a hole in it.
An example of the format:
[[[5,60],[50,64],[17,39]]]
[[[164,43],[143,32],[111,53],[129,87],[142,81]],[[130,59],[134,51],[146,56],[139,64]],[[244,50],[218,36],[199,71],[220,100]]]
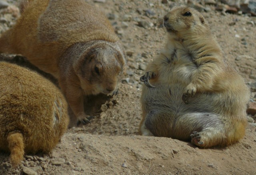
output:
[[[105,97],[105,104],[96,103],[92,124],[68,129],[50,154],[26,155],[22,164],[13,169],[9,154],[0,152],[0,174],[255,174],[256,1],[86,1],[108,16],[126,49],[127,70],[119,93]],[[156,26],[157,19],[177,5],[202,12],[226,58],[251,88],[246,136],[230,147],[199,149],[170,138],[138,136],[142,86],[139,78],[165,44],[166,31]],[[17,6],[16,0],[0,0],[0,33],[15,24],[20,15]],[[0,58],[33,68],[14,56]]]

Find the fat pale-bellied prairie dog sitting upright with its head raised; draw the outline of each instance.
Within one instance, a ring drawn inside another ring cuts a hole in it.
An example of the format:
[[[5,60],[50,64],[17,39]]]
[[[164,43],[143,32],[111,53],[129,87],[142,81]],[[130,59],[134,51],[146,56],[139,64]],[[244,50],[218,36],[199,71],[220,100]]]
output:
[[[204,148],[238,142],[250,98],[244,79],[198,11],[175,7],[162,22],[167,43],[141,77],[140,134],[191,140]]]

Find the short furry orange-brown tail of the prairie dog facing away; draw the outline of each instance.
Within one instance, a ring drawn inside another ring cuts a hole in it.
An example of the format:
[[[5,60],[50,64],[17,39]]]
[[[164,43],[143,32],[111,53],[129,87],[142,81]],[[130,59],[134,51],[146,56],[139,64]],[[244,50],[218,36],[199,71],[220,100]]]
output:
[[[16,167],[24,157],[23,136],[20,133],[10,133],[7,137],[7,142],[11,152],[10,162],[13,167]]]

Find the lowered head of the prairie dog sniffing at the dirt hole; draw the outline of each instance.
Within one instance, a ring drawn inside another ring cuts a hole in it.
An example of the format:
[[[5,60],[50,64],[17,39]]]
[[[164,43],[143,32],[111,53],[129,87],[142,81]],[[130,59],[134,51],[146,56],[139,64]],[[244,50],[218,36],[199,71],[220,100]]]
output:
[[[101,43],[88,48],[79,62],[77,75],[85,94],[110,94],[122,77],[125,58],[120,47]]]

